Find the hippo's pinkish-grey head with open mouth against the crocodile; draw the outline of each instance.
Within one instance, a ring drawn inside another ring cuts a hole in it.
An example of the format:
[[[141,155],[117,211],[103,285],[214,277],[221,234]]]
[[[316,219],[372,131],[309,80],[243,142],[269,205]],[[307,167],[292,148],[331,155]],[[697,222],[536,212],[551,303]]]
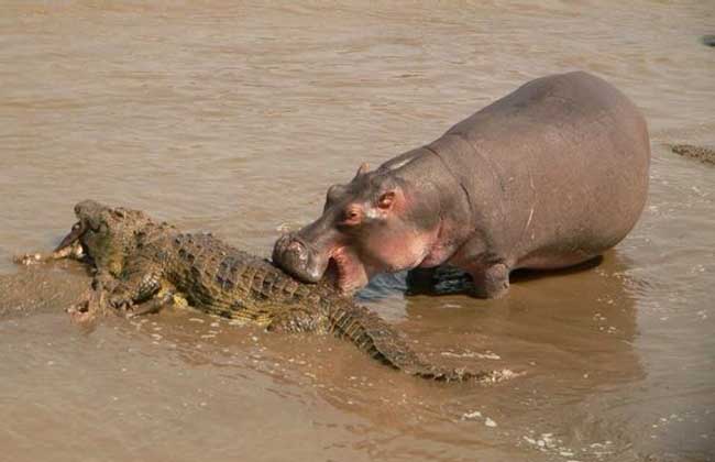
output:
[[[298,232],[283,235],[273,260],[297,278],[316,283],[331,274],[351,294],[382,272],[420,265],[439,229],[430,195],[415,194],[395,170],[363,164],[348,185],[328,189],[322,216]]]

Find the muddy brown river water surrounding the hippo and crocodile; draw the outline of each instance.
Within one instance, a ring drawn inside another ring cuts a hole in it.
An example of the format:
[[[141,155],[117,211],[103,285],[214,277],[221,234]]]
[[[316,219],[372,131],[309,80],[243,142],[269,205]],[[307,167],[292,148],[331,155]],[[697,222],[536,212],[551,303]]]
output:
[[[9,1],[0,13],[0,460],[715,460],[708,1]],[[403,376],[331,338],[196,312],[90,328],[84,268],[16,268],[84,198],[267,254],[361,162],[429,142],[521,82],[586,69],[652,138],[650,199],[601,265],[508,297],[360,298],[436,361]]]

